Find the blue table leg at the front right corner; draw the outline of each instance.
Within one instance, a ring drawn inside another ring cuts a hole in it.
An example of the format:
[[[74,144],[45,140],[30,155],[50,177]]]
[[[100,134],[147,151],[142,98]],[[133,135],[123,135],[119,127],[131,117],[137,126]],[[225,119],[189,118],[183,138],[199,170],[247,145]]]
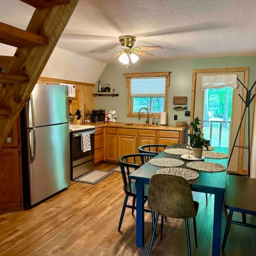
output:
[[[221,218],[224,200],[224,190],[218,191],[214,198],[214,220],[212,234],[212,256],[220,256],[221,248]]]

